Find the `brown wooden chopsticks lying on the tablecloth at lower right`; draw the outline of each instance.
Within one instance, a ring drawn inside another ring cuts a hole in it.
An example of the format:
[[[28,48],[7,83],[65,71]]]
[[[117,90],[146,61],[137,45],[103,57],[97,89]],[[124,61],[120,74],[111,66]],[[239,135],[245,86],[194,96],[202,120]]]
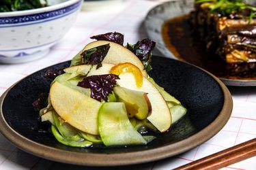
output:
[[[206,156],[182,167],[178,167],[175,170],[186,170],[186,169],[221,169],[238,163],[246,158],[256,156],[256,138],[240,143],[237,146],[227,148],[216,154]]]

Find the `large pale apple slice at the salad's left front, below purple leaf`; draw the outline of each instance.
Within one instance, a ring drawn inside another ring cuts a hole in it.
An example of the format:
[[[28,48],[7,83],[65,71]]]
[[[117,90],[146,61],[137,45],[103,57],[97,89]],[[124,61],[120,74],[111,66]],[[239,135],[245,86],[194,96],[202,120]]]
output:
[[[98,135],[98,110],[102,103],[55,82],[49,94],[53,108],[57,114],[76,129]]]

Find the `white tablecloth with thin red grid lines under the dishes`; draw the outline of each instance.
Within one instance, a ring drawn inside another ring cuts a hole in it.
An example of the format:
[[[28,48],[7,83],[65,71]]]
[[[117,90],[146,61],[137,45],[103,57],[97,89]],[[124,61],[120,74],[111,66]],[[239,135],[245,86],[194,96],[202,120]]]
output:
[[[44,67],[68,61],[88,44],[92,35],[117,31],[124,33],[125,43],[134,44],[147,37],[143,20],[147,12],[162,1],[126,0],[120,4],[83,11],[72,29],[43,58],[18,65],[0,65],[0,95],[12,84]],[[160,55],[158,51],[154,54]],[[193,160],[235,146],[256,137],[256,88],[229,87],[233,97],[233,112],[229,122],[212,139],[193,150],[152,163],[116,167],[115,169],[173,169]],[[19,150],[0,135],[0,169],[109,169],[81,167],[46,160]],[[113,169],[113,168],[111,168]],[[256,156],[224,169],[256,169]]]

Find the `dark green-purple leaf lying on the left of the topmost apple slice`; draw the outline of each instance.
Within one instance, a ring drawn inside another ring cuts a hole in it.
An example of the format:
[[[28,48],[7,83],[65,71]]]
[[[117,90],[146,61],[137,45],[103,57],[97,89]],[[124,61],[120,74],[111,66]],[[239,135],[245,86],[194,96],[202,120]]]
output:
[[[109,52],[109,48],[109,44],[105,44],[96,48],[85,50],[81,53],[82,63],[87,65],[98,65],[97,68],[101,67],[101,63],[106,54]]]

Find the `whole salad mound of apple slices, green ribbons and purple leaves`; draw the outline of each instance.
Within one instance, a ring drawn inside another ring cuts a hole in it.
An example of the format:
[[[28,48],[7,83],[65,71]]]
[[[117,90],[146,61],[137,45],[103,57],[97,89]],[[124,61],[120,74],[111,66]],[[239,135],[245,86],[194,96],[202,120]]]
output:
[[[123,46],[120,33],[93,38],[97,41],[53,80],[48,105],[40,110],[41,120],[51,122],[60,143],[145,145],[156,138],[147,131],[168,131],[186,114],[180,101],[147,75],[154,41]]]

